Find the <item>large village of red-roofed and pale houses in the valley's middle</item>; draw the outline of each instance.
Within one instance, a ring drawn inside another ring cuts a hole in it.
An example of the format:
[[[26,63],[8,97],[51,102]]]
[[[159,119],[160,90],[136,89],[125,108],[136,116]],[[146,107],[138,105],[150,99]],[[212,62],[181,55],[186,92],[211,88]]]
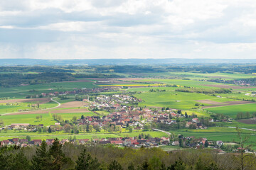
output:
[[[133,96],[124,94],[114,94],[112,96],[91,96],[90,99],[83,98],[85,103],[89,103],[90,111],[97,115],[84,116],[81,118],[74,117],[73,120],[62,120],[60,116],[53,115],[56,121],[55,125],[44,126],[30,125],[28,123],[12,123],[1,130],[23,130],[24,132],[68,132],[70,135],[79,135],[82,132],[105,132],[119,133],[122,131],[133,132],[141,130],[142,135],[135,137],[94,137],[91,139],[63,139],[60,142],[65,145],[66,142],[72,142],[80,145],[117,145],[119,147],[159,147],[159,146],[178,146],[203,149],[204,147],[220,148],[223,146],[222,141],[208,141],[206,138],[183,137],[178,135],[174,137],[171,133],[157,129],[157,125],[177,125],[181,128],[189,129],[206,129],[209,123],[214,123],[212,119],[201,121],[196,115],[183,114],[182,111],[170,108],[150,109],[136,107],[141,100]],[[97,111],[108,111],[107,115],[100,115]],[[181,123],[183,118],[190,120]],[[207,123],[206,123],[207,121]],[[151,137],[146,132],[159,130],[166,132],[169,137]],[[47,139],[46,143],[51,145],[54,139]],[[28,147],[31,145],[41,145],[42,140],[31,140],[13,138],[1,141],[1,146],[18,145]],[[223,151],[220,149],[220,153]]]

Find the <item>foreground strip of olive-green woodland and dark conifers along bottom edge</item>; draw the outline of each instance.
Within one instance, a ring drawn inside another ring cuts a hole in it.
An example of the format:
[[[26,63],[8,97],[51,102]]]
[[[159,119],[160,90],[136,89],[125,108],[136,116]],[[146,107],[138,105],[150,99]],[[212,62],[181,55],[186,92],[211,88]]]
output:
[[[106,170],[221,170],[241,169],[238,154],[218,154],[214,149],[190,149],[164,152],[159,148],[119,149],[112,146],[86,147],[66,143],[58,139],[48,146],[1,147],[0,169],[106,169]],[[255,169],[256,157],[250,155],[242,160],[242,167]]]

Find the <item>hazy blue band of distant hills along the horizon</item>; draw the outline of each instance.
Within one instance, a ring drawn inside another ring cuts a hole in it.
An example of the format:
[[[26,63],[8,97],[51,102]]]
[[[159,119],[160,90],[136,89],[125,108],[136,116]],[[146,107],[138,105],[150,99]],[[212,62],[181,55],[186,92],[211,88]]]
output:
[[[144,65],[144,64],[246,64],[256,60],[238,59],[93,59],[93,60],[38,60],[38,59],[0,59],[0,66],[14,65]]]

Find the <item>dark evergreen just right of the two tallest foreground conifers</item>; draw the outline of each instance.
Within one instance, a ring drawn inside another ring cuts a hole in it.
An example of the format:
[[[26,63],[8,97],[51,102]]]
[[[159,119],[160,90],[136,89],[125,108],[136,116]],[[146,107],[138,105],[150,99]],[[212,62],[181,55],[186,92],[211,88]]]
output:
[[[83,149],[80,157],[76,162],[75,166],[76,170],[97,170],[100,169],[100,163],[98,162],[97,158],[92,159],[90,154],[86,153],[86,149]]]

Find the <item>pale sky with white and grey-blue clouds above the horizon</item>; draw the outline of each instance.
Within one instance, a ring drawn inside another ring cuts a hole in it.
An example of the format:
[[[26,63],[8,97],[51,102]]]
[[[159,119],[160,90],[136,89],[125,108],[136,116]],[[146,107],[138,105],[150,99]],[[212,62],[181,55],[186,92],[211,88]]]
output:
[[[255,0],[0,0],[0,58],[256,59]]]

